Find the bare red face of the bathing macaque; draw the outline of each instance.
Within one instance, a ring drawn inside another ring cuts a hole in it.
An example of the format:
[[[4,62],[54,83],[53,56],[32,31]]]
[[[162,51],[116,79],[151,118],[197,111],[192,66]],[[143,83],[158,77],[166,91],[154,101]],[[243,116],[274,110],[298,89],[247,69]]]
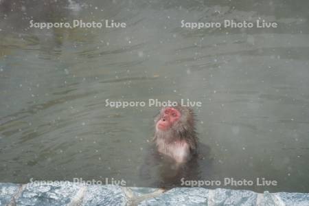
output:
[[[157,122],[157,129],[168,130],[179,120],[181,113],[176,108],[167,107],[161,113],[161,118]]]

